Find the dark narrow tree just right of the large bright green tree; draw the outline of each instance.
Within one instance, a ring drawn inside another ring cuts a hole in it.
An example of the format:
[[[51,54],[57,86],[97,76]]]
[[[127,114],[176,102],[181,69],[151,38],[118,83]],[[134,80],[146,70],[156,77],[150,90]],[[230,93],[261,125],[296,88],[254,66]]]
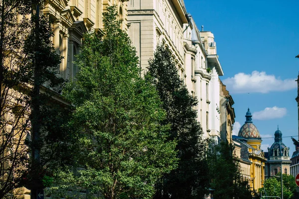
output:
[[[155,198],[202,198],[207,193],[208,178],[203,132],[194,109],[197,100],[179,78],[168,48],[157,45],[154,58],[149,60],[146,79],[156,87],[163,102],[166,118],[161,124],[170,124],[169,140],[177,140],[179,159],[178,168],[164,175],[156,184]]]

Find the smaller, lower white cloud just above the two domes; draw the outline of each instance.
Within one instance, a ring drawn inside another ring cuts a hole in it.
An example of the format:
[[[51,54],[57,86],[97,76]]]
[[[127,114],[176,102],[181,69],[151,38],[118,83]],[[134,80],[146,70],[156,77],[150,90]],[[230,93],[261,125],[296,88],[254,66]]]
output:
[[[277,106],[273,106],[252,113],[252,118],[258,120],[267,120],[267,119],[282,118],[286,114],[287,114],[287,108],[280,108]]]

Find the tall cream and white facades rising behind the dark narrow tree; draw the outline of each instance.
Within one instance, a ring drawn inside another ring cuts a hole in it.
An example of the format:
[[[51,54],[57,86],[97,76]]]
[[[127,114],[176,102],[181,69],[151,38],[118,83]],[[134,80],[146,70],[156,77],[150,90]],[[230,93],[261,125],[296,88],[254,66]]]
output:
[[[146,70],[155,46],[163,43],[173,54],[180,78],[198,99],[197,119],[204,137],[220,140],[219,76],[223,71],[214,35],[199,31],[183,0],[129,0],[129,35]],[[143,72],[144,73],[144,72]]]

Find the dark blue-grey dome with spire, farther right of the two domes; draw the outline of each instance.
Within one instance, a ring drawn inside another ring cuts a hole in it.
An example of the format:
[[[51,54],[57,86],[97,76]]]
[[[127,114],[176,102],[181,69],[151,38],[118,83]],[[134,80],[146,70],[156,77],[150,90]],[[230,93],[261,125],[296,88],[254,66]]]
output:
[[[274,133],[275,141],[270,148],[268,148],[269,156],[289,156],[289,148],[283,143],[282,132],[277,128]]]

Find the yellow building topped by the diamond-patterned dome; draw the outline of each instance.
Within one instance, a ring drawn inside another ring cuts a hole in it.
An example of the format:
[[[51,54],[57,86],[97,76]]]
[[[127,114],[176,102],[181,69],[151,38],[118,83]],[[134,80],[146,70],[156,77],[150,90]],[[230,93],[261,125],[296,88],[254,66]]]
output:
[[[246,121],[239,130],[238,137],[245,138],[247,140],[246,144],[248,147],[248,159],[252,163],[250,165],[250,187],[257,191],[263,187],[263,182],[265,180],[265,158],[264,152],[261,150],[262,139],[257,127],[252,122],[252,115],[248,108],[246,112]]]

